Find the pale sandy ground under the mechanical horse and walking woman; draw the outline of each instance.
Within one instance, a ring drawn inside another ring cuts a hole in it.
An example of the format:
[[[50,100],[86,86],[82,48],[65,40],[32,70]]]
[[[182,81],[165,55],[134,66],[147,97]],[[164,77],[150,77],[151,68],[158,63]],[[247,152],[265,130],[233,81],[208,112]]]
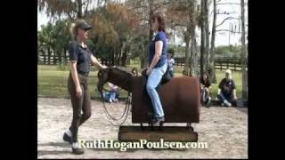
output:
[[[79,128],[78,138],[84,140],[117,140],[118,127],[107,121],[102,103],[92,100],[91,118]],[[112,108],[121,113],[124,104]],[[72,118],[70,100],[38,99],[37,156],[38,158],[248,158],[248,109],[201,108],[200,123],[192,124],[199,141],[208,142],[207,149],[85,149],[85,154],[72,155],[68,142],[62,140]],[[131,124],[131,114],[126,125]],[[178,125],[178,124],[177,124]]]

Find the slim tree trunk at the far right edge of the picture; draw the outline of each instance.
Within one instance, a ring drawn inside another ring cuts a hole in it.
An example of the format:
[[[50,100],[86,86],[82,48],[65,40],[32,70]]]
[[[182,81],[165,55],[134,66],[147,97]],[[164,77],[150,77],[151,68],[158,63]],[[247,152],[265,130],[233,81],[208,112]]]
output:
[[[241,71],[242,71],[242,99],[248,99],[248,71],[246,58],[246,32],[244,18],[244,0],[240,0],[241,9]]]

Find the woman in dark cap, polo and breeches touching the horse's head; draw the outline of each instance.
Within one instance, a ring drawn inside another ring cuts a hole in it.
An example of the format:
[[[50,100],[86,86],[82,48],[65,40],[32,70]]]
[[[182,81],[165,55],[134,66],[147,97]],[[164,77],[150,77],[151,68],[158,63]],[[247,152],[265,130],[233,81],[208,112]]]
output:
[[[90,65],[93,64],[100,69],[107,68],[99,63],[85,44],[89,29],[91,29],[91,26],[85,20],[76,20],[70,28],[74,39],[69,45],[70,73],[68,89],[73,116],[69,130],[63,134],[63,140],[72,144],[72,153],[77,155],[84,153],[82,148],[78,148],[78,127],[91,116],[91,100],[88,89]],[[81,114],[81,111],[83,114]]]

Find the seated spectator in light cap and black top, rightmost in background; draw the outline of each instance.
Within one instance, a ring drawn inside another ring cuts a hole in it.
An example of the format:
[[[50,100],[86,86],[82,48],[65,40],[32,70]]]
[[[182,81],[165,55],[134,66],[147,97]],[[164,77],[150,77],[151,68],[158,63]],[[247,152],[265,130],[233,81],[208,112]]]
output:
[[[230,69],[225,70],[225,77],[218,87],[217,98],[222,101],[222,106],[237,106],[235,83],[232,80],[232,71]]]

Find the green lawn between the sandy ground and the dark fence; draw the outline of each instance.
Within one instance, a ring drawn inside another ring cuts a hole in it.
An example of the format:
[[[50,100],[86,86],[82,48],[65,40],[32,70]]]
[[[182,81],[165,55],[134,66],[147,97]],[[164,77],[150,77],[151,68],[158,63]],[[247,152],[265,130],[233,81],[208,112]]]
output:
[[[131,61],[131,64],[127,66],[129,70],[132,68],[140,68],[140,63],[136,60]],[[100,98],[99,92],[95,91],[96,85],[98,82],[97,77],[97,69],[92,69],[90,72],[89,79],[89,87],[91,92],[91,97],[93,99]],[[183,68],[176,68],[175,76],[183,76],[182,75]],[[139,73],[141,73],[141,69],[139,69]],[[69,77],[69,68],[59,68],[58,66],[37,66],[37,92],[39,96],[42,97],[61,97],[61,98],[69,98],[69,92],[67,89],[67,81]],[[224,77],[224,71],[216,70],[216,79],[217,84],[212,84],[212,97],[216,98],[217,85]],[[234,79],[237,87],[237,96],[238,98],[241,96],[241,72],[232,72],[232,78]],[[121,90],[121,97],[126,97],[127,92]]]

